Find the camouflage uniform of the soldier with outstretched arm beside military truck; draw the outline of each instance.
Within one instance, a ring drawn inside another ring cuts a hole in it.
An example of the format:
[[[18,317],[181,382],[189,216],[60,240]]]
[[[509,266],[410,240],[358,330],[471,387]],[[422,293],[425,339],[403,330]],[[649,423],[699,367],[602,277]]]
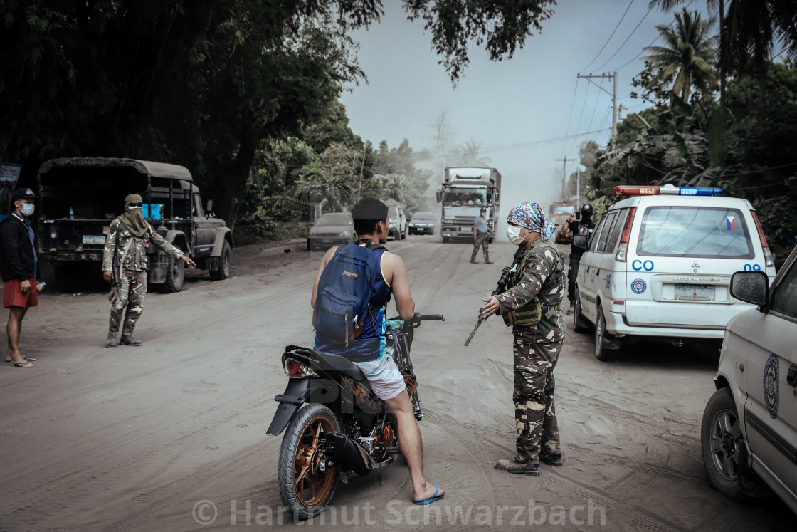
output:
[[[148,225],[148,224],[147,224]],[[138,321],[143,310],[144,297],[147,295],[147,270],[149,270],[149,258],[147,258],[147,243],[151,242],[155,246],[167,252],[174,258],[183,256],[183,251],[172,246],[163,237],[149,227],[148,238],[136,238],[124,227],[119,219],[115,219],[108,229],[108,238],[105,240],[103,251],[102,270],[113,270],[113,254],[119,253],[119,258],[124,262],[119,272],[120,286],[111,290],[109,297],[111,301],[111,320],[108,332],[116,336],[119,333],[119,326],[122,322],[124,308],[128,308],[124,318],[124,328],[122,334],[131,336],[135,329],[135,322]],[[129,247],[128,247],[129,246]],[[125,252],[127,250],[127,252]]]

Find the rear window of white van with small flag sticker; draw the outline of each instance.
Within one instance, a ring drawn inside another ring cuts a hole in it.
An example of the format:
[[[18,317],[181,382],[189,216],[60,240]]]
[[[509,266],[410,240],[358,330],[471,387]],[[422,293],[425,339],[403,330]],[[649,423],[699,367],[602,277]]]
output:
[[[656,257],[753,258],[750,233],[737,209],[649,207],[637,254]]]

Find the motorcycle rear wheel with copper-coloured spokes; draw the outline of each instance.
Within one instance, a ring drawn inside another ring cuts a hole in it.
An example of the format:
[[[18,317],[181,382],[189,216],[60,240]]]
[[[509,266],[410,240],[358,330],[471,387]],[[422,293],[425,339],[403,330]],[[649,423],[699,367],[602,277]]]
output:
[[[327,509],[340,473],[340,465],[325,467],[327,458],[319,450],[324,434],[340,432],[332,410],[311,403],[291,420],[280,447],[277,483],[282,503],[296,518],[305,521]]]

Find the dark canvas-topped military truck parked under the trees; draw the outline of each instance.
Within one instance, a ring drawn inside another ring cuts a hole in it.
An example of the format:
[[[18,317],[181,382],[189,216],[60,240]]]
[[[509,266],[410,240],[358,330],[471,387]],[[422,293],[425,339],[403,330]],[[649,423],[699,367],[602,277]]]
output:
[[[38,184],[39,257],[53,266],[61,290],[79,289],[89,276],[100,275],[108,228],[128,194],[141,195],[144,218],[211,279],[230,277],[230,228],[214,218],[212,201],[202,208],[185,167],[133,159],[54,159],[39,168]],[[148,282],[163,293],[179,292],[185,262],[151,248]]]

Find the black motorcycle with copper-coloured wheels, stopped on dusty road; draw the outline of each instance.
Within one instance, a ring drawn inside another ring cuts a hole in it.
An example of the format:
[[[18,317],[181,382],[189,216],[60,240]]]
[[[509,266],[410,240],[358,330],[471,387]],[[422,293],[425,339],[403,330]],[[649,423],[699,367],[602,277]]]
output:
[[[387,356],[404,377],[415,419],[422,420],[410,346],[422,321],[440,314],[387,321]],[[395,417],[371,390],[363,372],[344,357],[289,345],[282,355],[289,376],[267,434],[280,435],[277,483],[289,512],[306,520],[326,510],[338,480],[367,475],[393,462],[398,450]],[[304,407],[302,405],[304,404]],[[287,429],[287,430],[286,430]]]

